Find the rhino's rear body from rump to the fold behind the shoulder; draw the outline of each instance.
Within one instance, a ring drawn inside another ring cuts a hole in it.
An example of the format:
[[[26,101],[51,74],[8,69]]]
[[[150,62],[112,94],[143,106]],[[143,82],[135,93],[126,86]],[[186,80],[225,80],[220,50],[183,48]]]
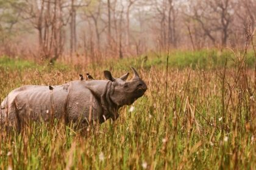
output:
[[[63,106],[68,96],[68,84],[53,86],[23,86],[10,92],[2,102],[2,117],[9,112],[9,120],[19,118],[19,121],[40,120],[48,121],[49,118],[60,118]],[[7,109],[8,108],[8,109]]]

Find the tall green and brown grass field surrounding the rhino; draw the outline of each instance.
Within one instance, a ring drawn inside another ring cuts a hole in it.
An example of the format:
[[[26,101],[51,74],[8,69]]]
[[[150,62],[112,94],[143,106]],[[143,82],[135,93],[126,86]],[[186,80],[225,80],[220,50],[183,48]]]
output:
[[[244,63],[244,64],[243,64]],[[254,53],[201,50],[104,64],[36,64],[0,58],[0,99],[25,84],[63,84],[137,68],[146,94],[85,135],[62,123],[1,129],[1,169],[256,169]],[[166,79],[167,78],[167,79]],[[167,80],[167,81],[166,81]],[[132,109],[131,109],[132,107]]]

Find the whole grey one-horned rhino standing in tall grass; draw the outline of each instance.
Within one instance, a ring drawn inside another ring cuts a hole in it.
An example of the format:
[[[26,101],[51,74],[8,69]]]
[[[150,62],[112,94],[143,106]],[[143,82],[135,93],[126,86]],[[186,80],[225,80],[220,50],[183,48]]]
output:
[[[104,71],[107,80],[71,81],[52,86],[22,86],[12,90],[1,103],[1,124],[21,130],[29,121],[63,119],[65,123],[80,126],[98,121],[103,123],[118,118],[118,109],[132,104],[143,96],[147,86],[133,69],[133,78],[126,81],[129,72],[113,78]]]

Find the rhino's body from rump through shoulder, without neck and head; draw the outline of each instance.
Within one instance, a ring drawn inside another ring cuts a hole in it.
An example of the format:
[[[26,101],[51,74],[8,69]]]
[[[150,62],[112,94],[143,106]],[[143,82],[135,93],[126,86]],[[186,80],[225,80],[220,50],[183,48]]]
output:
[[[7,110],[10,122],[64,117],[68,121],[80,120],[87,124],[101,117],[101,102],[84,81],[52,87],[53,90],[48,86],[23,86],[13,90],[1,104],[1,120],[5,120]]]

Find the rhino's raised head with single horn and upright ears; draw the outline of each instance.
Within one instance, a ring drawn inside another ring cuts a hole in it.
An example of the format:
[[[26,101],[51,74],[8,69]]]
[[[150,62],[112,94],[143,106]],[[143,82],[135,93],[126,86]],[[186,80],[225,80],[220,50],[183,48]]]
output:
[[[126,81],[130,74],[129,72],[122,77],[114,78],[109,71],[104,71],[105,78],[112,81],[112,87],[114,88],[110,98],[118,107],[132,104],[137,98],[143,96],[148,89],[137,71],[133,67],[131,68],[133,70],[133,78],[130,81]]]

